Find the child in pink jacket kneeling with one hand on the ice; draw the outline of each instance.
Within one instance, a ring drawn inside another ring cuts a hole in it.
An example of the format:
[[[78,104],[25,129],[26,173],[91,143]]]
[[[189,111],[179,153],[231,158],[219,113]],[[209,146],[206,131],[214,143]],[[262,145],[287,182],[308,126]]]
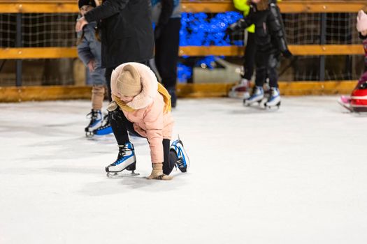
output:
[[[170,146],[171,96],[152,70],[141,63],[123,63],[113,70],[111,92],[109,119],[120,150],[117,160],[106,167],[107,173],[136,169],[134,145],[129,142],[128,132],[149,142],[153,169],[148,178],[171,180],[168,175],[175,166],[185,172],[189,158],[182,142],[178,139]]]

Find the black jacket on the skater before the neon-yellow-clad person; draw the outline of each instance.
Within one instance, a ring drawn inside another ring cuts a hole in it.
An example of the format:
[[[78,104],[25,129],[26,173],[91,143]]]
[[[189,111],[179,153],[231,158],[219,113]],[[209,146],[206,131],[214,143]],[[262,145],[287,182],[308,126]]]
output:
[[[256,4],[251,4],[249,15],[239,24],[241,29],[251,24],[255,25],[257,50],[263,52],[288,50],[282,15],[275,3],[271,2],[267,10],[261,11],[257,10]]]

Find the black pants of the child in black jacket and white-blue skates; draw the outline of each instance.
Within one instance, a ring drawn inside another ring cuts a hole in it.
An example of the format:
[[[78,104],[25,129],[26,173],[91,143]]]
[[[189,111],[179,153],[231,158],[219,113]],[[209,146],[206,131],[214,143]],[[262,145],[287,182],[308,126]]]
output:
[[[278,87],[278,71],[277,66],[279,63],[278,52],[261,51],[257,50],[255,62],[256,62],[256,80],[257,86],[263,86],[266,81],[266,77],[269,78],[269,85],[271,87]]]

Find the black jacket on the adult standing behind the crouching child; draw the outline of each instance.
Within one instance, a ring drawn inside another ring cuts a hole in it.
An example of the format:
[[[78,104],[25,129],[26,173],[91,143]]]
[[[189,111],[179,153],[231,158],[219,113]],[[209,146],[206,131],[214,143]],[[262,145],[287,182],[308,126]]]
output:
[[[87,22],[99,22],[103,68],[152,59],[151,15],[148,0],[105,0],[85,14]]]

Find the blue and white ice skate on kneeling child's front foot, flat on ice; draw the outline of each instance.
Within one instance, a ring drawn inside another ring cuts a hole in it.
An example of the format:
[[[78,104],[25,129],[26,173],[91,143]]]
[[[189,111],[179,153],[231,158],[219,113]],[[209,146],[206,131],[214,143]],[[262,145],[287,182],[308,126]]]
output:
[[[131,171],[131,174],[119,174],[122,170],[127,169]],[[107,176],[114,178],[116,176],[137,176],[136,169],[136,157],[134,151],[134,145],[127,142],[124,145],[119,145],[119,154],[117,160],[106,167]]]

